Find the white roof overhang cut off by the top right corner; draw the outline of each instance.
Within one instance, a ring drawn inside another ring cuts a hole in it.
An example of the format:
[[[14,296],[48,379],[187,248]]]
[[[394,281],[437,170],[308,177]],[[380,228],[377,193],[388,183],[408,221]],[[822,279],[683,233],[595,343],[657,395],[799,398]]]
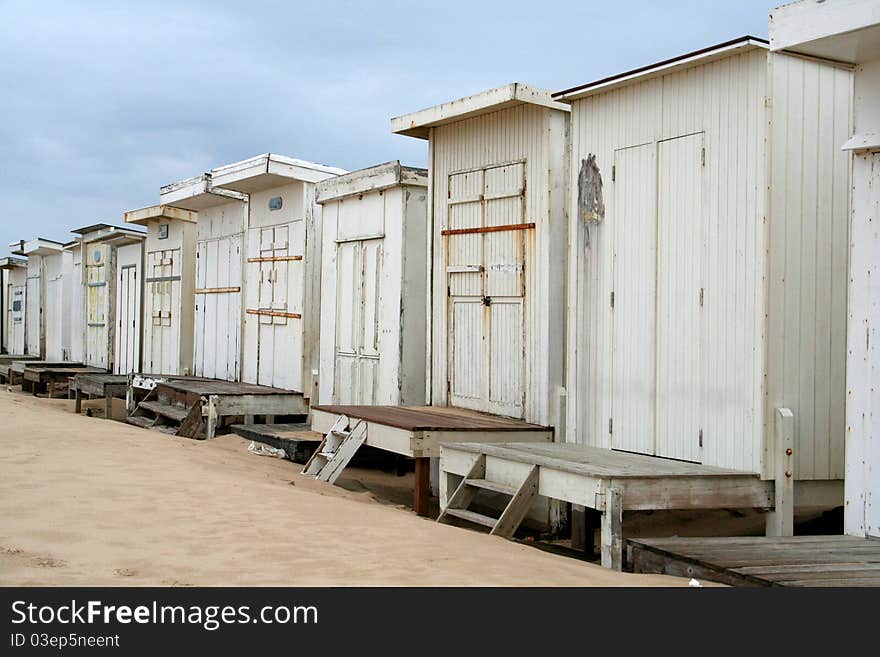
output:
[[[877,0],[800,0],[770,12],[770,48],[858,64],[880,59]]]

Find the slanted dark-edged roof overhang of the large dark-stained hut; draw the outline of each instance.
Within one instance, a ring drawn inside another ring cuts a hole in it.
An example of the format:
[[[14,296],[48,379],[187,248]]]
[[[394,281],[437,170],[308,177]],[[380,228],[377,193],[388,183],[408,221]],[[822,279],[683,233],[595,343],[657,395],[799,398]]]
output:
[[[767,50],[767,41],[753,36],[744,36],[739,39],[726,41],[725,43],[719,43],[715,46],[709,46],[708,48],[679,55],[672,59],[666,59],[662,62],[657,62],[656,64],[649,64],[648,66],[642,66],[631,71],[618,73],[617,75],[602,78],[595,82],[588,82],[587,84],[578,85],[571,89],[557,91],[553,94],[553,98],[562,102],[570,103],[579,100],[580,98],[592,96],[593,94],[610,91],[618,87],[623,87],[635,82],[642,82],[643,80],[654,77],[660,77],[693,66],[701,66],[716,59],[723,59],[724,57],[730,57],[731,55],[755,49]]]

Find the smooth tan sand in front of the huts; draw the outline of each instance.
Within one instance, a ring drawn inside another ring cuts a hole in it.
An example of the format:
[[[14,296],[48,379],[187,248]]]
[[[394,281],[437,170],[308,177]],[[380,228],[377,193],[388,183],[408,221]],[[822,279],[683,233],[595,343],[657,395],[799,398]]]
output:
[[[687,585],[438,525],[237,436],[175,438],[12,390],[0,391],[0,585]]]

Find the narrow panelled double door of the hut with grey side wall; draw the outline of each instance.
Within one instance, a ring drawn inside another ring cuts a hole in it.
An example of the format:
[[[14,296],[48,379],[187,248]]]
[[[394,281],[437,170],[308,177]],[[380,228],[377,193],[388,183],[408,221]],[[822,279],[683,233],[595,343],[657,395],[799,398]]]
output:
[[[341,242],[336,249],[337,404],[374,404],[379,385],[382,239]]]

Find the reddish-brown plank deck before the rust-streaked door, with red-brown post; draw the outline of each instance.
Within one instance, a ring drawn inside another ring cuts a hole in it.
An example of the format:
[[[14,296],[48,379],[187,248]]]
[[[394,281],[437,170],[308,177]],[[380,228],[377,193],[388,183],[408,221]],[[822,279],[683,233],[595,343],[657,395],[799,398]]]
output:
[[[364,444],[415,459],[413,507],[428,515],[430,459],[447,441],[541,442],[553,440],[553,427],[451,406],[313,406],[312,429],[330,431],[340,415],[367,424]]]

